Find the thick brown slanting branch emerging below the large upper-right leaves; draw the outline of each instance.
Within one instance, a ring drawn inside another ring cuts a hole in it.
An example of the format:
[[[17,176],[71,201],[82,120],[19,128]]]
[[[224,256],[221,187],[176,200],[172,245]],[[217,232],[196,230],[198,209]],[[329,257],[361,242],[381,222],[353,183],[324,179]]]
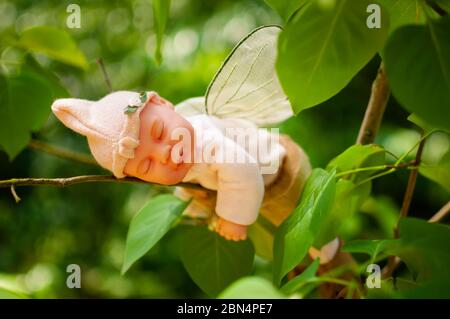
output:
[[[383,119],[384,110],[389,100],[390,89],[386,78],[384,64],[381,62],[377,77],[372,83],[369,103],[359,129],[356,144],[370,144],[375,141],[378,129]]]

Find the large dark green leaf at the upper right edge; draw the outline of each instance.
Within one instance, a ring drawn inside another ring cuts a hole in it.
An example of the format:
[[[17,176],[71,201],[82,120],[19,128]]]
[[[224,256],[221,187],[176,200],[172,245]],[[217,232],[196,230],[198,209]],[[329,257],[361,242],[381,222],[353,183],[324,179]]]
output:
[[[391,35],[384,51],[395,98],[426,123],[446,130],[450,130],[449,34],[449,17],[427,26],[404,26]]]

